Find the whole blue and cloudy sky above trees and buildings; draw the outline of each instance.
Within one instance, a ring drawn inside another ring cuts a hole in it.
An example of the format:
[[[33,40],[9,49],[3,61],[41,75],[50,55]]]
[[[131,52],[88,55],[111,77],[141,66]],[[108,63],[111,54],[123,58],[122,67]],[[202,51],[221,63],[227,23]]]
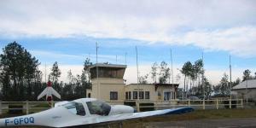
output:
[[[127,64],[126,84],[137,82],[136,46],[140,76],[155,61],[171,67],[171,49],[174,78],[202,55],[212,84],[229,73],[230,55],[232,79],[256,72],[254,0],[1,0],[0,19],[0,48],[16,41],[43,73],[57,61],[62,81],[85,58],[96,62],[96,42],[99,62]]]

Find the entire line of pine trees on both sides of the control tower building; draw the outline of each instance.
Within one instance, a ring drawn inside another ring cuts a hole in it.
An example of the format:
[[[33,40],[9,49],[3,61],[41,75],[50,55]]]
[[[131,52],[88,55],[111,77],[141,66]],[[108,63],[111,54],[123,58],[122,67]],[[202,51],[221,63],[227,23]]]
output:
[[[0,55],[0,100],[36,101],[38,95],[46,87],[46,83],[42,81],[43,74],[38,70],[39,65],[38,59],[20,44],[16,42],[7,44],[3,48],[3,54]],[[91,89],[90,65],[92,65],[90,59],[86,58],[82,74],[73,75],[70,70],[67,73],[68,82],[63,83],[59,81],[61,70],[55,61],[47,81],[50,80],[53,83],[53,88],[61,94],[61,100],[86,97],[86,89]],[[160,65],[154,62],[148,74],[154,83],[164,84],[171,81],[172,72],[170,71],[165,61],[162,61]],[[242,80],[238,78],[230,83],[229,76],[224,73],[219,84],[212,85],[204,76],[204,63],[201,59],[194,63],[185,62],[179,71],[183,74],[183,89],[178,90],[177,97],[202,97],[205,95],[206,98],[209,98],[213,92],[215,96],[229,96],[230,84],[234,86],[246,79],[256,79],[256,73],[253,76],[251,71],[247,69],[243,72]],[[148,83],[148,74],[139,77],[140,84]],[[178,73],[175,78],[179,82],[181,80],[180,74]]]

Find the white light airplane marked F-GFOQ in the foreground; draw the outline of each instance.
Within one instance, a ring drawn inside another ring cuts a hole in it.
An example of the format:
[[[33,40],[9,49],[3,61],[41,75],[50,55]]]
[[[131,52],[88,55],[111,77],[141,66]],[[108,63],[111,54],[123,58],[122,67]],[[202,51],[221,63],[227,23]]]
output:
[[[0,119],[0,127],[6,126],[49,126],[49,127],[79,127],[101,125],[122,121],[125,119],[138,119],[149,116],[189,113],[193,108],[171,108],[140,112],[125,105],[110,106],[95,98],[81,98],[71,102],[56,102],[55,108],[18,117]]]

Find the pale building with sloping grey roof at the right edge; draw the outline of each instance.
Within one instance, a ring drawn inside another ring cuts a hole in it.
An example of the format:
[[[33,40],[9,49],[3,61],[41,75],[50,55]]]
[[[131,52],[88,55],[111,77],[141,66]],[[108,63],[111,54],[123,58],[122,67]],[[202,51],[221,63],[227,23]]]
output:
[[[256,79],[247,79],[232,88],[238,98],[256,101]]]

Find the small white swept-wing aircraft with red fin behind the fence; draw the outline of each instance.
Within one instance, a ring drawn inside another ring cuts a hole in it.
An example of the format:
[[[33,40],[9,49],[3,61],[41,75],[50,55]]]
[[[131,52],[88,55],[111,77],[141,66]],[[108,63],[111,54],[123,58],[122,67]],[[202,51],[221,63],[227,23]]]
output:
[[[54,96],[58,97],[59,99],[61,99],[61,95],[55,89],[52,88],[51,82],[48,81],[47,87],[38,96],[38,100],[41,99],[43,96],[46,96],[46,101],[50,102],[53,99],[52,95],[54,95]]]

